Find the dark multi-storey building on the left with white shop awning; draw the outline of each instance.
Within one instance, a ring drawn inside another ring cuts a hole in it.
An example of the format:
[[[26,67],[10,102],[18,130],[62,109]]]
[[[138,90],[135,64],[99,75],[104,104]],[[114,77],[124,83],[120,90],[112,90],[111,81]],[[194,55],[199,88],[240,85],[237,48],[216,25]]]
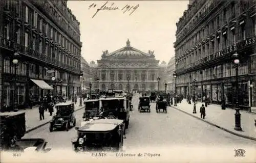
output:
[[[67,1],[0,1],[1,104],[26,105],[29,98],[36,103],[47,93],[69,97],[79,90],[81,46]]]

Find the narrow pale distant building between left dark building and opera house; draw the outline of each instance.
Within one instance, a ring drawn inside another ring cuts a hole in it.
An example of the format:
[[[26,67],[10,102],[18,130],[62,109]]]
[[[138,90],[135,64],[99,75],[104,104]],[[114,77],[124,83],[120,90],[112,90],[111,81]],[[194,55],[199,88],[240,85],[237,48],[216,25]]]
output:
[[[92,78],[91,68],[89,63],[81,57],[81,71],[83,73],[83,82],[82,82],[82,90],[87,90],[90,88],[90,78]]]

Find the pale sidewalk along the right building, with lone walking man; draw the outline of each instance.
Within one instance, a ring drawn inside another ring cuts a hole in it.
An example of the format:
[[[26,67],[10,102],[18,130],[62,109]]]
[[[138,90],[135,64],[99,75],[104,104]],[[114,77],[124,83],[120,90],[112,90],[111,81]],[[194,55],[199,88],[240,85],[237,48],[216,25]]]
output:
[[[186,99],[183,99],[181,103],[177,103],[177,106],[172,105],[172,107],[189,114],[195,118],[198,118],[208,124],[214,125],[222,130],[230,132],[232,134],[238,135],[239,137],[251,139],[256,141],[256,129],[254,126],[254,119],[256,119],[255,114],[248,113],[246,111],[240,111],[241,114],[241,127],[243,131],[234,130],[234,114],[235,110],[231,108],[226,108],[226,110],[221,110],[221,106],[217,104],[210,104],[205,107],[206,116],[205,119],[200,117],[200,107],[202,102],[197,102],[196,104],[196,114],[193,114],[194,103],[188,104]]]

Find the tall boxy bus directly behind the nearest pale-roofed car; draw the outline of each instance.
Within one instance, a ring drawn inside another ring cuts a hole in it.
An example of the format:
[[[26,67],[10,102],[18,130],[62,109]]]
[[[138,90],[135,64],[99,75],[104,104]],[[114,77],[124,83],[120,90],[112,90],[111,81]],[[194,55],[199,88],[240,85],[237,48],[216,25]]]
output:
[[[109,119],[121,119],[125,123],[125,128],[128,128],[130,109],[127,95],[116,94],[114,90],[109,89],[105,96],[99,98],[99,101],[102,116]]]

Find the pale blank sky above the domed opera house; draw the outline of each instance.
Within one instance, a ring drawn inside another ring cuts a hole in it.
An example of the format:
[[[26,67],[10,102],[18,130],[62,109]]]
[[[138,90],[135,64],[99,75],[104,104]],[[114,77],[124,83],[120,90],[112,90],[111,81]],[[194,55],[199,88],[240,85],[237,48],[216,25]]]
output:
[[[97,12],[103,5],[118,9]],[[154,50],[157,60],[168,63],[175,55],[176,22],[187,5],[188,1],[68,1],[80,22],[81,56],[88,63],[100,60],[104,50],[126,46],[127,39],[132,47]]]

